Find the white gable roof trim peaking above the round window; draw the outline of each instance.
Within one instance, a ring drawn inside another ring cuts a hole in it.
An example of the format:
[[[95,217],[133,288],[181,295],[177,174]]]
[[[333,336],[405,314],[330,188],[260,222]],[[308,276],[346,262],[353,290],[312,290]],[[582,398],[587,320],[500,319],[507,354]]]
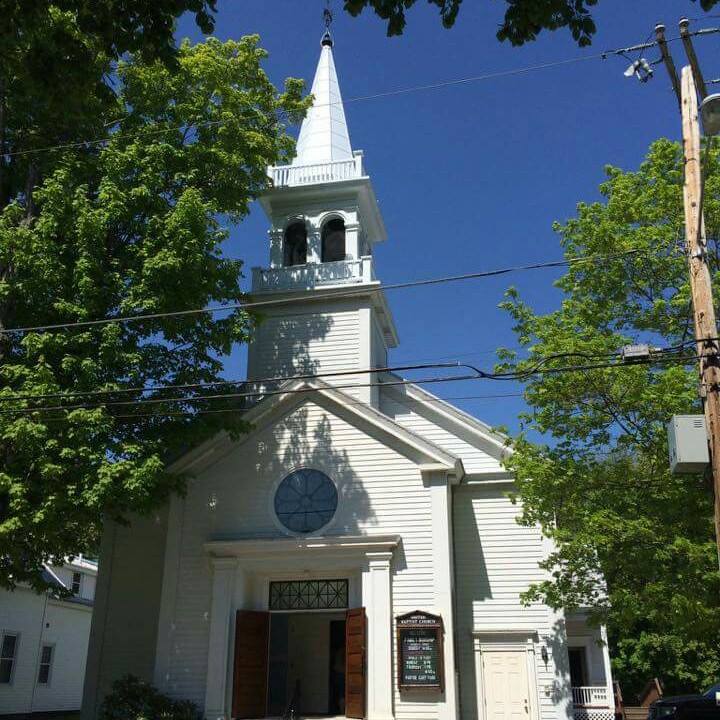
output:
[[[373,435],[388,447],[413,458],[421,472],[446,472],[453,476],[454,482],[459,482],[465,475],[462,460],[455,455],[402,427],[379,410],[359,403],[356,398],[319,379],[291,380],[285,383],[278,391],[266,396],[245,413],[243,418],[254,425],[248,434],[239,440],[233,440],[227,433],[218,433],[176,460],[169,470],[197,472],[308,401]]]

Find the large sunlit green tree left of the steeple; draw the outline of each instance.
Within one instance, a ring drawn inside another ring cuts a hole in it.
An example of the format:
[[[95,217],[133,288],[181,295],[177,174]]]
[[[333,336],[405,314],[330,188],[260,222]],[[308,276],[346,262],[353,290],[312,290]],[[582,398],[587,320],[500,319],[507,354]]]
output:
[[[32,191],[13,185],[0,212],[6,328],[242,300],[226,226],[267,187],[266,167],[289,160],[286,123],[307,106],[300,81],[276,90],[264,57],[257,37],[183,44],[170,64],[130,56],[112,104],[81,113],[113,118],[105,142],[27,154]],[[132,401],[220,392],[160,386],[218,380],[252,324],[233,310],[2,336],[0,584],[38,584],[43,560],[95,547],[103,518],[180,490],[166,457],[242,429],[237,413],[197,412],[210,401]],[[121,392],[77,394],[98,390]]]

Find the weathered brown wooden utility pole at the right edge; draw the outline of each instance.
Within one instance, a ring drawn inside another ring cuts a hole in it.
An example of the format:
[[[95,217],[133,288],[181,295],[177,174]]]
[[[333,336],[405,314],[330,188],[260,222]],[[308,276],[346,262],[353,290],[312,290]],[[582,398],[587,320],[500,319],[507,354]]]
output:
[[[692,68],[682,69],[681,112],[685,159],[685,242],[690,263],[695,340],[699,357],[700,394],[705,410],[710,467],[715,494],[715,539],[720,560],[720,343],[715,322],[712,283],[702,213],[702,167],[698,99]]]

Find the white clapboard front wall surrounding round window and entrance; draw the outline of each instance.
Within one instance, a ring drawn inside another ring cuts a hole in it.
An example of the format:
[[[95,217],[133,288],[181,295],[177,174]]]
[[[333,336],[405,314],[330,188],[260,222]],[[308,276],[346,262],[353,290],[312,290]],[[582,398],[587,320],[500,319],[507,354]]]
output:
[[[326,471],[338,485],[340,503],[330,532],[402,536],[392,578],[393,614],[433,608],[430,496],[417,466],[308,401],[239,445],[189,488],[163,688],[174,697],[200,706],[204,702],[210,571],[202,544],[210,537],[281,536],[271,516],[273,490],[287,473],[303,465]],[[211,496],[214,510],[208,507]],[[395,703],[399,720],[437,717],[433,703],[407,703],[399,694]]]

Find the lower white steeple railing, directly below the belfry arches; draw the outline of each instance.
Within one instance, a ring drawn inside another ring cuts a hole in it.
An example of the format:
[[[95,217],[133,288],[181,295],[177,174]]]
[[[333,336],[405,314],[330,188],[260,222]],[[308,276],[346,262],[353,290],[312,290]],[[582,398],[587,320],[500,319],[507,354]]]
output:
[[[361,285],[375,280],[372,257],[308,263],[278,268],[253,268],[252,291],[312,290],[334,285]]]

